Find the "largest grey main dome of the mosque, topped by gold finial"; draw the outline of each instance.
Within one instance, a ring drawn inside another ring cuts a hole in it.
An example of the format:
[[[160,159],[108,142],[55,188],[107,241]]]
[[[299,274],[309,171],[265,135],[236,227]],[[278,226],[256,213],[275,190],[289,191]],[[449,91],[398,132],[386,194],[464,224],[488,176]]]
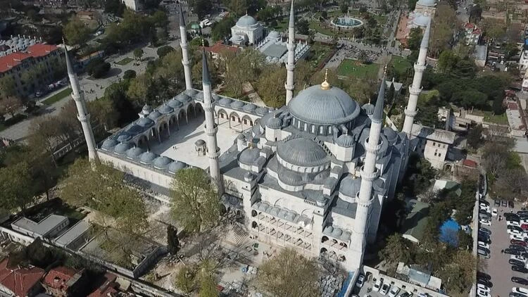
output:
[[[348,122],[356,118],[360,110],[358,103],[342,89],[323,89],[319,84],[301,91],[291,99],[288,108],[298,120],[313,124]]]

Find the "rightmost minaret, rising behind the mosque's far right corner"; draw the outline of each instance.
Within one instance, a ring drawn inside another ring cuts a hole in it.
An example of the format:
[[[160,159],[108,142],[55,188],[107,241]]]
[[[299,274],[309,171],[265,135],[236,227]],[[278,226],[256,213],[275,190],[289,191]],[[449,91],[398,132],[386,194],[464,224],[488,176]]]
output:
[[[418,103],[418,96],[422,91],[422,77],[425,71],[425,58],[427,58],[427,48],[429,46],[429,34],[431,34],[431,18],[425,28],[424,36],[422,37],[422,44],[420,45],[420,53],[418,54],[418,61],[415,63],[415,76],[413,78],[413,85],[409,87],[409,101],[405,110],[406,119],[403,122],[402,132],[406,132],[410,136],[413,130],[413,123],[417,113],[416,105]]]

